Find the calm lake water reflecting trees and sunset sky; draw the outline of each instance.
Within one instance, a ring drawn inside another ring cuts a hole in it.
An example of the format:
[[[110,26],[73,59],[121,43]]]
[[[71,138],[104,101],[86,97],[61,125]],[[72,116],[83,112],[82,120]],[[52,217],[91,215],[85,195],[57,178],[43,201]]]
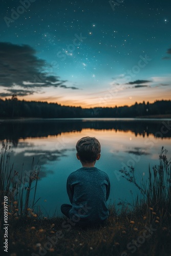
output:
[[[60,205],[70,203],[66,181],[81,167],[76,159],[76,142],[84,136],[101,143],[101,158],[96,167],[111,181],[109,203],[132,202],[138,190],[123,179],[118,170],[133,165],[137,180],[148,177],[148,165],[159,163],[164,146],[171,155],[171,120],[145,119],[65,119],[0,121],[0,140],[10,141],[11,164],[21,172],[30,170],[32,158],[41,165],[37,187],[39,205],[45,216],[60,215]],[[132,190],[132,193],[130,192]],[[133,194],[133,195],[132,195]]]

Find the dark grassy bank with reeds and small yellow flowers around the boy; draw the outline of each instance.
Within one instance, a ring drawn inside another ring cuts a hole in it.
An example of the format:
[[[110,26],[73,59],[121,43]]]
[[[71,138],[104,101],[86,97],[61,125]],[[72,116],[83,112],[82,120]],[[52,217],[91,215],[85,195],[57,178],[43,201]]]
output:
[[[166,151],[161,150],[159,165],[149,168],[149,179],[138,184],[135,169],[120,170],[134,183],[143,198],[132,209],[122,204],[110,206],[110,217],[103,226],[81,228],[66,218],[42,218],[36,206],[36,186],[40,168],[31,164],[26,179],[10,167],[10,148],[3,143],[0,164],[1,202],[9,198],[8,254],[1,255],[170,255],[171,254],[171,166]],[[16,179],[17,178],[17,179]],[[18,182],[18,180],[20,182]],[[26,189],[25,189],[26,188]],[[30,200],[32,195],[33,202]],[[1,241],[3,241],[4,205],[1,206]]]

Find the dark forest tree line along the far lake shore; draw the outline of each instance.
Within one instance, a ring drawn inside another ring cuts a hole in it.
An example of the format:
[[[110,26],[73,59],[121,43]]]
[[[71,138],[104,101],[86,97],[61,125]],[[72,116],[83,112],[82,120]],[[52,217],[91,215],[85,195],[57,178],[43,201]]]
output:
[[[82,118],[82,117],[143,117],[171,114],[170,100],[156,100],[154,103],[135,103],[132,106],[114,108],[83,109],[80,106],[65,106],[58,103],[0,99],[0,118]]]

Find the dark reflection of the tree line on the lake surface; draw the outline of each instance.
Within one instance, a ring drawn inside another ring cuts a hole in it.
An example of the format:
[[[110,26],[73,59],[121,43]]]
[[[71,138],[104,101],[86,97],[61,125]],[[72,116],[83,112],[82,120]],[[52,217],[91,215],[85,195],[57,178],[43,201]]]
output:
[[[81,131],[82,129],[114,130],[129,132],[143,137],[153,134],[154,137],[171,137],[171,131],[161,133],[162,121],[148,120],[34,120],[34,121],[9,121],[0,123],[0,139],[10,140],[17,145],[19,138],[57,136],[65,132]],[[166,127],[164,129],[166,131]]]

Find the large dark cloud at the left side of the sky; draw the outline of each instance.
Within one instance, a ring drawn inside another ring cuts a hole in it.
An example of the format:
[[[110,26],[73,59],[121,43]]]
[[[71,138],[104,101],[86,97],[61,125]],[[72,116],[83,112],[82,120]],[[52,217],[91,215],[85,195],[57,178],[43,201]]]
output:
[[[25,96],[33,94],[37,89],[65,86],[65,82],[53,75],[53,66],[39,59],[32,47],[0,42],[0,86],[10,88],[6,94],[14,93],[11,89],[14,86],[20,87],[15,90],[17,95]],[[63,88],[78,89],[67,86]]]

